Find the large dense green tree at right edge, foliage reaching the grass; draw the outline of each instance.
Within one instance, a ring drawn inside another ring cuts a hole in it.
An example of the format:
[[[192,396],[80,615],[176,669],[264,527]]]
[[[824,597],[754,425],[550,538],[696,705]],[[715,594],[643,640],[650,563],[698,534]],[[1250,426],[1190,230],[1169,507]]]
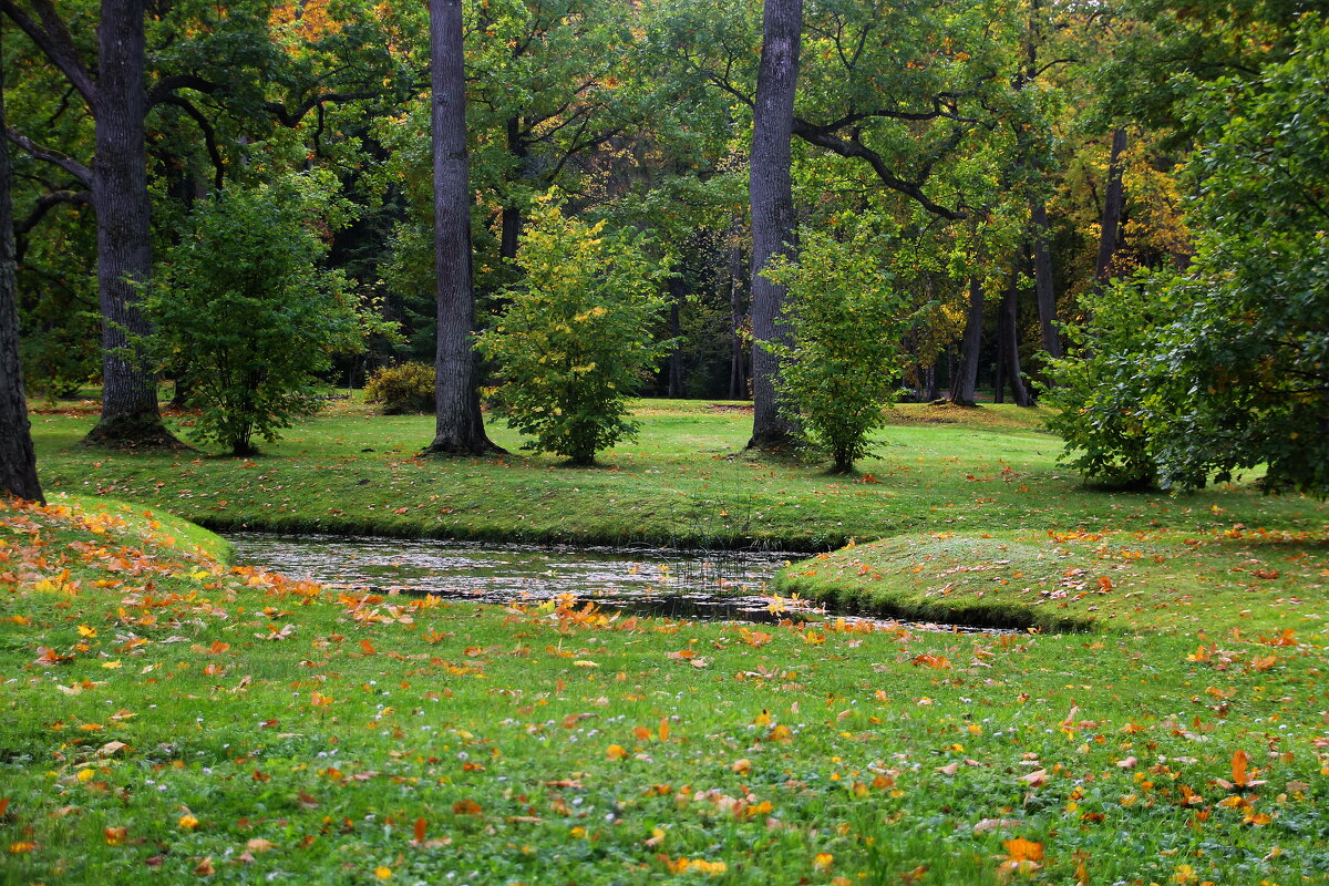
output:
[[[1306,17],[1296,45],[1197,89],[1195,256],[1119,284],[1166,310],[1096,304],[1058,369],[1079,383],[1058,430],[1091,476],[1193,489],[1263,464],[1269,486],[1329,494],[1329,130],[1306,124],[1329,120],[1329,25]]]

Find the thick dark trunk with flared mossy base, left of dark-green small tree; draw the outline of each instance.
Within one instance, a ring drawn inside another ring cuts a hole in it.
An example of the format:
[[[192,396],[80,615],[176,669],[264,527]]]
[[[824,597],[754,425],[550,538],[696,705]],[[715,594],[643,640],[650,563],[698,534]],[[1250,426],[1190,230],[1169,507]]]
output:
[[[144,64],[144,0],[102,0],[92,170],[102,404],[86,442],[110,446],[178,445],[162,426],[157,377],[133,353],[133,340],[149,333],[138,304],[153,270]]]

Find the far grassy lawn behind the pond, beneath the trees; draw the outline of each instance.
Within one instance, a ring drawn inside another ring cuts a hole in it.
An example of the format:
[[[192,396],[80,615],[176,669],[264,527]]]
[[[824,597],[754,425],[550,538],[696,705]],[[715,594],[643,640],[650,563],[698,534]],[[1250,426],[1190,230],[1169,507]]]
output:
[[[33,433],[48,489],[125,498],[214,529],[816,551],[906,533],[1320,531],[1329,522],[1321,505],[1251,484],[1183,498],[1086,489],[1057,468],[1061,442],[1039,430],[1038,412],[1015,406],[901,406],[856,477],[748,456],[751,413],[736,404],[639,401],[637,416],[641,438],[582,470],[520,452],[501,425],[490,433],[510,456],[419,460],[431,417],[381,417],[350,401],[249,461],[85,450],[90,404],[35,416]]]

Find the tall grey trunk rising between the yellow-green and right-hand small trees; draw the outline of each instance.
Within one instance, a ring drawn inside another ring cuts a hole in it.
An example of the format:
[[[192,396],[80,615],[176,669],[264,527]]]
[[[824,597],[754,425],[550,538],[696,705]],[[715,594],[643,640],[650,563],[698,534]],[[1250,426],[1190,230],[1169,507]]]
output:
[[[762,341],[788,341],[781,321],[784,288],[762,275],[776,255],[793,254],[793,189],[789,138],[799,78],[803,0],[766,0],[762,65],[752,109],[752,440],[750,448],[779,449],[793,441],[795,425],[780,414],[775,391],[779,360]]]

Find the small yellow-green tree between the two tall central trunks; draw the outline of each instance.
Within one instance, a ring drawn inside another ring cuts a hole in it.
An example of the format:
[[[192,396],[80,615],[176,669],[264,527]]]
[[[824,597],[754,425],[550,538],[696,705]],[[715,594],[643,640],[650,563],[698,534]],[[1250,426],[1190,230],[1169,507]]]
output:
[[[627,395],[670,347],[651,335],[666,308],[658,270],[638,242],[602,228],[541,201],[517,254],[525,283],[478,343],[498,363],[489,404],[532,449],[574,465],[635,436]]]

